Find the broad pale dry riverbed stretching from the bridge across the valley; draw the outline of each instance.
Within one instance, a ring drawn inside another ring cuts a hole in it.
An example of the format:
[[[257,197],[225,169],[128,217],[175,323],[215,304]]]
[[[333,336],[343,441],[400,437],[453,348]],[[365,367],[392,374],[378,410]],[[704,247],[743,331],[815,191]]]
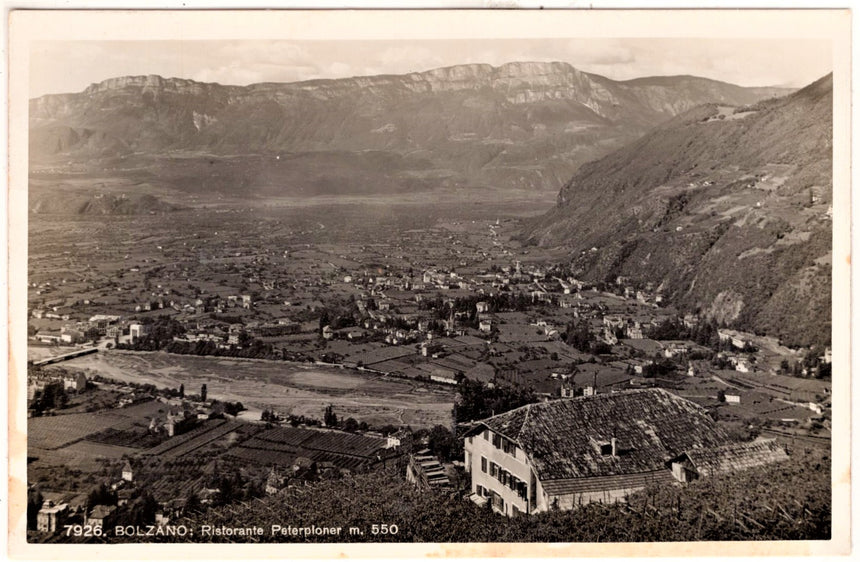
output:
[[[189,393],[206,384],[210,397],[239,401],[254,411],[275,409],[322,419],[325,407],[332,404],[338,417],[351,416],[370,425],[405,424],[414,429],[448,425],[454,403],[454,392],[436,385],[287,362],[107,352],[63,366],[159,387],[184,384]]]

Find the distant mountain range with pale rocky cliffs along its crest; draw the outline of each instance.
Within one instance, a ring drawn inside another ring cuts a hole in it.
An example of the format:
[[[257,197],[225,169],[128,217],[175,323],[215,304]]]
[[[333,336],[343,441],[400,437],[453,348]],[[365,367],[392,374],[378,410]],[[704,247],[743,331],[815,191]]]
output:
[[[528,62],[246,87],[121,77],[30,101],[31,167],[262,195],[555,190],[679,112],[777,92],[689,76],[616,82]],[[211,177],[192,179],[201,174]]]

